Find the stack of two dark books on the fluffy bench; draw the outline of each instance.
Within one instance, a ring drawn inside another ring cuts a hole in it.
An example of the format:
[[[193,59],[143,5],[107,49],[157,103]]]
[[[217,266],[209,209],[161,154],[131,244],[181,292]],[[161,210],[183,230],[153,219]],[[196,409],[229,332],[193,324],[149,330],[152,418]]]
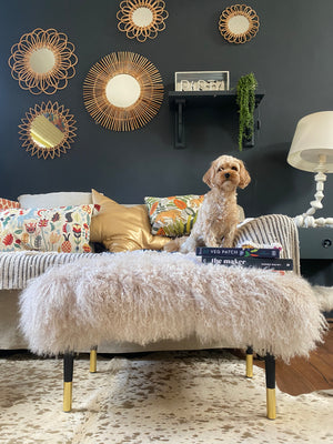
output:
[[[292,259],[281,259],[279,249],[252,249],[252,248],[211,248],[198,246],[195,254],[201,256],[203,263],[219,265],[255,266],[258,269],[292,271]]]

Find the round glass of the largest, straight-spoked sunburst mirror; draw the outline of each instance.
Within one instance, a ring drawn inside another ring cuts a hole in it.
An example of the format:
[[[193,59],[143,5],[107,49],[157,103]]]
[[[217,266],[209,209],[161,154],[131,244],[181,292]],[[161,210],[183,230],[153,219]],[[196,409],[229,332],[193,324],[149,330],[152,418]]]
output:
[[[105,93],[109,102],[114,107],[128,108],[140,98],[141,88],[132,75],[118,74],[109,80]]]

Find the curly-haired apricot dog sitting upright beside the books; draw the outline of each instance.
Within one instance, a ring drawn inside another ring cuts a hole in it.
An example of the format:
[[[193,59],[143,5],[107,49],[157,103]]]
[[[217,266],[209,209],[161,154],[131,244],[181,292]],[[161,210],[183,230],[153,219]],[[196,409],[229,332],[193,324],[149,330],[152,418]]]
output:
[[[211,191],[204,196],[191,234],[168,242],[165,251],[189,253],[199,245],[233,246],[239,223],[236,189],[249,185],[250,174],[241,160],[221,155],[212,162],[202,180]]]

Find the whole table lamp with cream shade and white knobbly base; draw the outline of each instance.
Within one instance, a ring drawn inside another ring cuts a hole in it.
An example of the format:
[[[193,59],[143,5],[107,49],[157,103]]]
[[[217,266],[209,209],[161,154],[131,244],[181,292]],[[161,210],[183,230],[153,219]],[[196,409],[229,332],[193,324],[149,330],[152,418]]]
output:
[[[315,112],[299,121],[286,161],[299,170],[316,173],[315,200],[305,213],[295,218],[296,225],[333,228],[333,218],[313,216],[323,208],[325,173],[333,172],[333,111]]]

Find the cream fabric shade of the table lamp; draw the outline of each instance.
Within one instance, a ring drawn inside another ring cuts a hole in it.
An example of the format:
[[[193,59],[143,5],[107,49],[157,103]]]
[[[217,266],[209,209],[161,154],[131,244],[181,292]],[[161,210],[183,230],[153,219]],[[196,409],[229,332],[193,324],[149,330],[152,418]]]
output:
[[[299,121],[286,161],[303,171],[333,172],[333,111],[315,112]]]

